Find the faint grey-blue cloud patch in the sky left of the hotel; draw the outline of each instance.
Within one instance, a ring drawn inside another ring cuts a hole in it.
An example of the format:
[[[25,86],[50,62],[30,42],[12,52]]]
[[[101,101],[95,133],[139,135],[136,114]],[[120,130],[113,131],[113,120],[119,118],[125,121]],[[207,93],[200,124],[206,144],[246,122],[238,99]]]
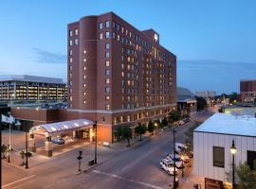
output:
[[[49,52],[40,48],[33,48],[34,56],[33,60],[39,63],[65,63],[66,56],[61,53]]]

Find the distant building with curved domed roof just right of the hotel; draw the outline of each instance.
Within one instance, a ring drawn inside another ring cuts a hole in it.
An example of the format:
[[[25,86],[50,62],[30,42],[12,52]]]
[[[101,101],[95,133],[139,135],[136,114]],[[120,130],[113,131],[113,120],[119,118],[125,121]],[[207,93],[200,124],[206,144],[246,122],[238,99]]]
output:
[[[188,115],[196,112],[196,99],[187,88],[177,87],[177,111]]]

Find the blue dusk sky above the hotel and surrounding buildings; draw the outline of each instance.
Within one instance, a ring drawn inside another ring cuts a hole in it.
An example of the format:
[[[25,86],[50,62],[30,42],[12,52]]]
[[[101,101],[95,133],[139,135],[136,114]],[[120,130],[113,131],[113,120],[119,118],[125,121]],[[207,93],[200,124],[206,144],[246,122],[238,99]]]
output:
[[[217,94],[256,78],[255,0],[1,0],[1,75],[66,79],[67,24],[114,11],[154,28],[177,56],[177,84]]]

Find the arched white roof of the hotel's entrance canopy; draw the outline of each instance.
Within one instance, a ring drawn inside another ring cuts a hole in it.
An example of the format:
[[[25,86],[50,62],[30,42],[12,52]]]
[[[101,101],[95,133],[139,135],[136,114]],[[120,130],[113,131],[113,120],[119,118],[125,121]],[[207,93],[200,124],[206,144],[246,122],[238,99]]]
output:
[[[67,130],[77,130],[77,129],[89,129],[93,127],[94,122],[88,119],[76,119],[71,121],[56,122],[51,124],[42,124],[39,126],[34,126],[31,130],[45,129],[46,132],[62,132]]]

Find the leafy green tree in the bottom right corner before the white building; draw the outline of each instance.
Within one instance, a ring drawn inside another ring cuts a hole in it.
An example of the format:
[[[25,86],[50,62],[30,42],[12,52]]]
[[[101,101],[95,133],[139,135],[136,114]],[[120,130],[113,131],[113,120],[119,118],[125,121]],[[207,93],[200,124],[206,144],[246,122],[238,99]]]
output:
[[[254,161],[254,169],[251,169],[247,163],[239,163],[235,167],[235,174],[238,178],[238,187],[240,189],[256,188],[256,160]],[[232,171],[227,173],[228,180],[232,180]]]

